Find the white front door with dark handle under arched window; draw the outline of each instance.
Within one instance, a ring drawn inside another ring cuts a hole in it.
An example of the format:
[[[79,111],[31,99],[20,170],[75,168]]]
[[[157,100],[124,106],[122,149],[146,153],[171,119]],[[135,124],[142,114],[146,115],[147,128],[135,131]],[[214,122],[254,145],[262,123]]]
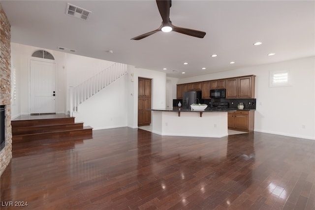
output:
[[[56,64],[30,61],[31,114],[56,113]]]

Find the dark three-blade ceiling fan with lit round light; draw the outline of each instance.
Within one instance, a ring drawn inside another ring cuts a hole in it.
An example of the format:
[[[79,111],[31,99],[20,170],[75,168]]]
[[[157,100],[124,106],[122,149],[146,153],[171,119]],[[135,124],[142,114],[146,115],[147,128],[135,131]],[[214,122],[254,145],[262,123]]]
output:
[[[186,28],[174,26],[171,20],[169,19],[169,8],[172,6],[171,0],[157,0],[157,4],[158,4],[159,14],[161,15],[162,20],[163,20],[161,26],[156,30],[133,37],[131,40],[140,40],[158,31],[169,32],[172,30],[175,32],[183,33],[183,34],[198,37],[198,38],[203,38],[206,35],[206,32],[203,32],[200,30],[186,29]]]

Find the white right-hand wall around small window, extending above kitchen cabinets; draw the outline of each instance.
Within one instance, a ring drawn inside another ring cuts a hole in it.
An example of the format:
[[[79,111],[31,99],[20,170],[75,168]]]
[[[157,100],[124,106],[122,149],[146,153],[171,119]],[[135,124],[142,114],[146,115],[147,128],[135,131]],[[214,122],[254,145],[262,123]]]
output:
[[[269,72],[290,70],[292,86],[269,87]],[[315,139],[315,57],[180,79],[178,84],[256,75],[255,131]]]

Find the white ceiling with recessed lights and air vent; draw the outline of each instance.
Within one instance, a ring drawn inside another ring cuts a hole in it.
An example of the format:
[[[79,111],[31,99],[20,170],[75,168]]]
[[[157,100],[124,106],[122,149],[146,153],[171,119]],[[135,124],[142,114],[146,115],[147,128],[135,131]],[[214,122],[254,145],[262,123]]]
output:
[[[66,15],[67,2],[92,11],[90,18]],[[162,21],[154,0],[1,0],[1,5],[12,42],[74,49],[77,55],[176,78],[315,56],[314,0],[173,0],[172,23],[205,31],[205,37],[159,31],[141,40],[130,39],[157,29]],[[262,45],[254,46],[257,41]]]

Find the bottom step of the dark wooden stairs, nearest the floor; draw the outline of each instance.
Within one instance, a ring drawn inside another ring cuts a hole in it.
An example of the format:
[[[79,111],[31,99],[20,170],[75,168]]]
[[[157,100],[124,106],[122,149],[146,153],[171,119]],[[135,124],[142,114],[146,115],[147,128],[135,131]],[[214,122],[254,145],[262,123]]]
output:
[[[53,132],[44,132],[44,133],[33,133],[33,134],[26,134],[26,135],[15,135],[12,137],[12,142],[26,142],[32,140],[39,140],[39,139],[54,139],[54,138],[61,138],[61,137],[85,137],[85,138],[92,138],[93,132],[92,127],[84,126],[82,129],[75,129],[75,130],[63,130],[63,131],[53,131]]]

